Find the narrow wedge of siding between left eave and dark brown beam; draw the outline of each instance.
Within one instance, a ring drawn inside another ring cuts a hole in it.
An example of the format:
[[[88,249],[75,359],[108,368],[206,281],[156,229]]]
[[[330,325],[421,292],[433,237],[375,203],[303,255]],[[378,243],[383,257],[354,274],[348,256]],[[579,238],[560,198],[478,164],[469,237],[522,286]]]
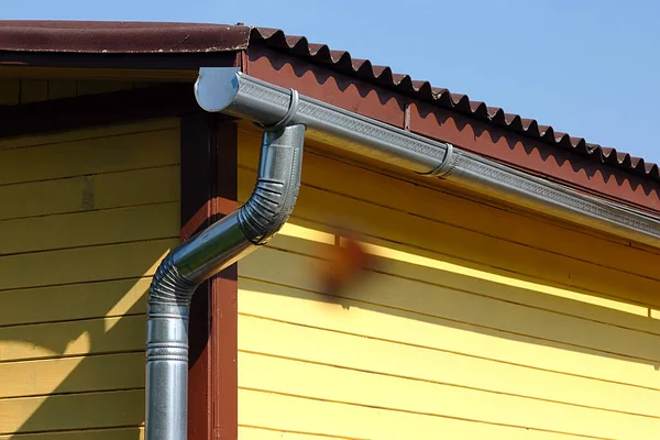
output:
[[[82,95],[143,87],[143,82],[119,80],[0,78],[0,106],[15,106]]]

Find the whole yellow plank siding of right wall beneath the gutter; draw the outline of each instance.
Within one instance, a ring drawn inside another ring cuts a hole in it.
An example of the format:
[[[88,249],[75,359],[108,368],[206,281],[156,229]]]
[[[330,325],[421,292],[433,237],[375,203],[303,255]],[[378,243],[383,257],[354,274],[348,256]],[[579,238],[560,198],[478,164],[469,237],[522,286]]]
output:
[[[258,139],[239,151],[244,201]],[[658,253],[319,152],[302,180],[239,264],[241,439],[660,436]],[[345,224],[376,264],[329,296]]]

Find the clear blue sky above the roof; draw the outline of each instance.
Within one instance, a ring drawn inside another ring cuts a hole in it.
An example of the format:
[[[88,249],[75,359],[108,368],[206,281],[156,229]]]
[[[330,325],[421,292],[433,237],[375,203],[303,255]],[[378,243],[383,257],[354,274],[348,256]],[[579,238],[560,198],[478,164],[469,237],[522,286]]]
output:
[[[660,162],[660,1],[0,0],[0,19],[279,28]]]

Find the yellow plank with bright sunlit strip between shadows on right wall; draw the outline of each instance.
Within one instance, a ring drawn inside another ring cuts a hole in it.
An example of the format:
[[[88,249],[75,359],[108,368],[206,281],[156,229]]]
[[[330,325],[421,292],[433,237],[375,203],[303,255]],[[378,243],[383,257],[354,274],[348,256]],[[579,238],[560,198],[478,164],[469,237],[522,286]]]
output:
[[[336,237],[324,232],[326,230],[324,226],[294,218],[271,240],[268,246],[314,257],[324,256],[329,254],[330,246],[336,242]],[[660,334],[660,320],[653,316],[652,309],[645,306],[534,283],[515,276],[493,274],[484,270],[449,263],[438,258],[437,255],[425,254],[415,249],[408,249],[407,252],[399,251],[406,246],[384,240],[370,239],[370,243],[362,244],[372,255],[373,270],[381,273]],[[315,283],[314,288],[319,287],[318,283]]]

